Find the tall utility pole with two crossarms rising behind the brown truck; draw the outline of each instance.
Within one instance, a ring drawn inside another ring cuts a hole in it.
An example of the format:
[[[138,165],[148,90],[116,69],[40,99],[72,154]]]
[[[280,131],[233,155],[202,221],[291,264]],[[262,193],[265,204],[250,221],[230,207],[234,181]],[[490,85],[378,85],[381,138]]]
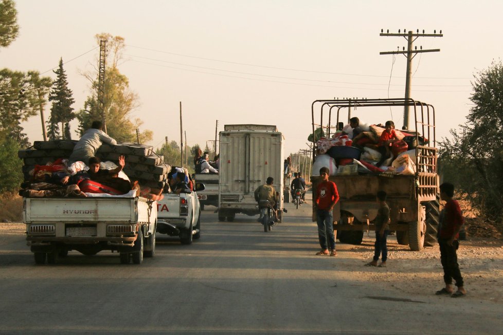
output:
[[[416,57],[418,53],[421,52],[438,52],[440,49],[428,49],[428,50],[423,50],[423,47],[421,46],[420,49],[418,50],[418,47],[415,47],[414,50],[412,50],[412,43],[417,40],[418,37],[443,37],[442,30],[440,30],[440,33],[437,34],[437,30],[433,31],[433,34],[425,34],[424,30],[422,33],[419,32],[419,29],[416,31],[416,33],[412,33],[411,30],[409,30],[407,33],[405,33],[405,29],[403,30],[403,33],[400,32],[400,29],[398,30],[397,33],[390,33],[389,29],[386,32],[383,32],[383,29],[381,29],[381,33],[379,36],[401,36],[407,40],[407,51],[405,51],[405,47],[402,47],[402,51],[400,51],[399,47],[397,47],[397,51],[384,51],[380,52],[379,54],[403,54],[405,57],[407,57],[407,70],[406,70],[406,76],[405,76],[405,99],[410,99],[410,89],[411,89],[411,79],[412,79],[412,59]],[[414,53],[414,55],[412,55]],[[403,126],[408,129],[409,128],[409,106],[405,105],[404,107],[404,113],[403,113]]]

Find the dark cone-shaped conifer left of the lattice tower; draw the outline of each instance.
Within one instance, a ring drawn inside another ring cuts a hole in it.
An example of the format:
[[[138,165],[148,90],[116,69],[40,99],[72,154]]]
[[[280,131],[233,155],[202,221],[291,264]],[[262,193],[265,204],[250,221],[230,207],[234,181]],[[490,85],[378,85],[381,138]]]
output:
[[[59,60],[59,67],[56,71],[56,80],[52,84],[52,89],[49,94],[49,101],[52,101],[51,113],[47,122],[47,135],[49,139],[55,140],[59,138],[59,125],[61,123],[62,139],[71,139],[70,121],[75,119],[74,108],[71,107],[75,102],[72,97],[71,89],[68,88],[66,73],[63,68],[63,59]]]

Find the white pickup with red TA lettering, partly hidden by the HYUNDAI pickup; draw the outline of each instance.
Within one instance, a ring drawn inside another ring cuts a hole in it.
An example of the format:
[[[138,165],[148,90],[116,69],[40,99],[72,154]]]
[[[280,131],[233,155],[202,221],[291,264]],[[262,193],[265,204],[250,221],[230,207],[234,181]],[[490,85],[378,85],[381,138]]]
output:
[[[179,236],[182,244],[191,244],[201,237],[201,205],[197,198],[204,191],[203,183],[195,183],[190,193],[164,193],[157,201],[157,232]]]

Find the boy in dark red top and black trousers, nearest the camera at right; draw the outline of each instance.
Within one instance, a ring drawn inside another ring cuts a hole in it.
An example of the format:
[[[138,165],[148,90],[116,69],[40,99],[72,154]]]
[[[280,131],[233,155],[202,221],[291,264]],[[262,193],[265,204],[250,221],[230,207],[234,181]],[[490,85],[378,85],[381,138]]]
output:
[[[444,182],[440,185],[440,199],[446,201],[444,217],[440,225],[438,245],[440,247],[440,262],[444,270],[445,287],[435,294],[451,294],[453,298],[464,296],[466,290],[463,287],[463,277],[459,271],[458,255],[459,230],[463,225],[463,215],[459,203],[453,199],[454,185]],[[456,281],[458,290],[454,292],[452,283]]]

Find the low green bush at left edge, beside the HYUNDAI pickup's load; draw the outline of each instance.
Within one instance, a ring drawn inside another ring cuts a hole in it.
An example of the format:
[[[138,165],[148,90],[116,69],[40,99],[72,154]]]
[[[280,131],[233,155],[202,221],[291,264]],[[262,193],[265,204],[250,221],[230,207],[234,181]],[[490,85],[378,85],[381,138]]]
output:
[[[0,134],[0,193],[15,192],[23,182],[23,161],[17,157],[20,149],[14,139]]]

